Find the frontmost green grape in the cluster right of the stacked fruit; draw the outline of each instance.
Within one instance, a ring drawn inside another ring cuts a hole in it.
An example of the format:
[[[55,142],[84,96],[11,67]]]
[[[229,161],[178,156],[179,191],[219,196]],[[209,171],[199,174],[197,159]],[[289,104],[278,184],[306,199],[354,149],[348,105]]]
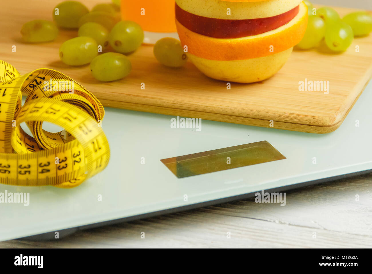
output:
[[[325,44],[332,51],[345,51],[354,39],[353,29],[343,21],[327,26],[325,30]]]

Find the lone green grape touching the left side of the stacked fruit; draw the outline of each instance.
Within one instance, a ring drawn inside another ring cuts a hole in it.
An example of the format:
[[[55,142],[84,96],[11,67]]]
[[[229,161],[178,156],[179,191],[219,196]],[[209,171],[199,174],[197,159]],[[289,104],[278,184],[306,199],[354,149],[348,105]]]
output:
[[[154,55],[159,63],[167,67],[181,67],[187,62],[187,55],[181,42],[170,37],[162,38],[155,43]]]

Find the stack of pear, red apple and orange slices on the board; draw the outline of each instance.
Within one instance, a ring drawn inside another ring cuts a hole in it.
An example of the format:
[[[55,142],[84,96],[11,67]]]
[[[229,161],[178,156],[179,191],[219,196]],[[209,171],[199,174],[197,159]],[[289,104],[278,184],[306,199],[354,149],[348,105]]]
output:
[[[195,66],[211,78],[241,83],[278,72],[308,20],[302,0],[176,0],[175,10]]]

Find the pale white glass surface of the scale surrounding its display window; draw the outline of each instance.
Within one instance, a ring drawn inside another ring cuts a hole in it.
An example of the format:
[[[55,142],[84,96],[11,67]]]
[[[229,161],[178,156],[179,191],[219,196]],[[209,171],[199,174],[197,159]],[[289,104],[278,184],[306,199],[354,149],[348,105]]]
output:
[[[0,203],[0,240],[47,232],[52,233],[36,239],[54,238],[55,231],[63,236],[78,227],[129,221],[247,198],[260,190],[283,191],[372,172],[371,102],[369,83],[339,129],[328,134],[207,120],[202,120],[198,132],[171,128],[173,116],[106,108],[102,126],[110,144],[108,167],[73,189],[0,185],[3,193],[30,193],[28,206]],[[265,140],[286,159],[182,179],[160,161]],[[98,201],[99,195],[102,201]]]

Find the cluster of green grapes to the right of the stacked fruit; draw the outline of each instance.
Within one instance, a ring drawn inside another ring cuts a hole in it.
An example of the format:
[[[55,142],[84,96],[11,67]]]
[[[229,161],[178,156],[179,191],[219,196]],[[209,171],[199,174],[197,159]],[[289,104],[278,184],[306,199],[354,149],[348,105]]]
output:
[[[347,50],[354,37],[365,36],[372,31],[372,16],[367,12],[353,12],[341,19],[330,7],[314,9],[312,3],[304,2],[308,6],[309,21],[298,48],[307,50],[324,41],[331,51],[341,52]]]

